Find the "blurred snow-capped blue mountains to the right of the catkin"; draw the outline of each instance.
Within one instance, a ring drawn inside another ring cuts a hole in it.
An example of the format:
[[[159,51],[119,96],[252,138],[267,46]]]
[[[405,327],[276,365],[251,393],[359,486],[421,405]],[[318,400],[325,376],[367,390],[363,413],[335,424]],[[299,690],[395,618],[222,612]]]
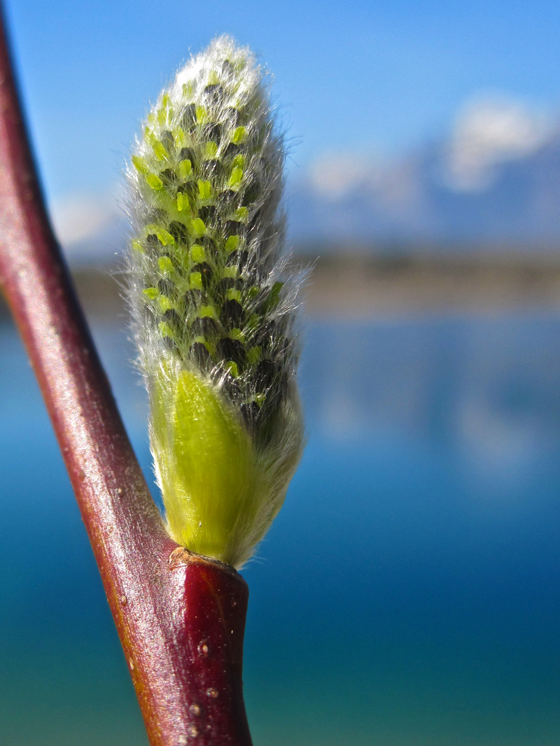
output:
[[[474,101],[449,137],[390,161],[328,154],[289,195],[293,245],[461,251],[560,245],[560,122]]]

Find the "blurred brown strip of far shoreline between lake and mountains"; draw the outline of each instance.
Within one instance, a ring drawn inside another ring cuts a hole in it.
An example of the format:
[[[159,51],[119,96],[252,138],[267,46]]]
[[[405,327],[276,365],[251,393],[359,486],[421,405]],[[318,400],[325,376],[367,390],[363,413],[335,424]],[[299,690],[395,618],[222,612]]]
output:
[[[296,265],[310,260],[296,257]],[[116,267],[72,272],[88,315],[125,318]],[[308,316],[560,310],[560,251],[538,254],[328,254],[311,264]],[[0,318],[7,308],[0,297]]]

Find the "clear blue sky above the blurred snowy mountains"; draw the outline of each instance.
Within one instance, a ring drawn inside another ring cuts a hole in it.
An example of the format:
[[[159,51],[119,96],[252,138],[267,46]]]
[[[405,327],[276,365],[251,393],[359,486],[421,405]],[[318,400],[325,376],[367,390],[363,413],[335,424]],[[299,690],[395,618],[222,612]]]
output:
[[[560,4],[6,0],[49,199],[103,193],[151,98],[217,34],[273,71],[290,170],[326,151],[394,153],[444,134],[479,92],[560,109]]]

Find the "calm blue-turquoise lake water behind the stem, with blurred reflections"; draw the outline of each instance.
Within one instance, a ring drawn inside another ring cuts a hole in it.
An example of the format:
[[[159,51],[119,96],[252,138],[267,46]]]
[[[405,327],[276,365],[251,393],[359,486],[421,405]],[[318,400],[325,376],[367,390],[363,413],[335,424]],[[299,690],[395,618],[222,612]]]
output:
[[[96,338],[150,475],[118,330]],[[0,327],[0,733],[146,744],[57,446]],[[560,316],[310,323],[308,448],[243,571],[255,746],[560,743]]]

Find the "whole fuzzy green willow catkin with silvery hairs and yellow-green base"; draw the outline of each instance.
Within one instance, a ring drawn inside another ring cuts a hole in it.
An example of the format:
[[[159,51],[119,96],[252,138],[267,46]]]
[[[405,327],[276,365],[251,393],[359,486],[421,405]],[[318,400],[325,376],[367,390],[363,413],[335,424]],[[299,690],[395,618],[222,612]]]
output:
[[[128,169],[129,293],[167,527],[236,567],[302,451],[283,166],[263,71],[222,37],[161,94]]]

